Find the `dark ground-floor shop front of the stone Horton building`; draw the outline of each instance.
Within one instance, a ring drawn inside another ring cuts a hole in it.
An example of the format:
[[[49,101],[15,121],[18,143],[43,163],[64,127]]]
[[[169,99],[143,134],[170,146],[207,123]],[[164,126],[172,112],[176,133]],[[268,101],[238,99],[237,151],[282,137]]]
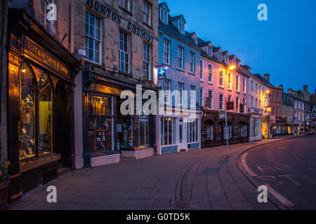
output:
[[[84,167],[119,162],[121,155],[136,159],[154,155],[154,116],[137,115],[136,106],[134,113],[121,111],[126,109],[126,99],[136,100],[136,86],[105,78],[93,66],[85,66],[82,77]]]

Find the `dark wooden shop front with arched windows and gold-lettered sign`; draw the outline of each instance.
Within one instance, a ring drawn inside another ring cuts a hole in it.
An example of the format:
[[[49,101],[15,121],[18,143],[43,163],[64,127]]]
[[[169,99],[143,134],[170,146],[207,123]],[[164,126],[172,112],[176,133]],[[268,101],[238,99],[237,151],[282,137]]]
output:
[[[9,9],[9,202],[74,168],[73,80],[81,62],[26,12]]]

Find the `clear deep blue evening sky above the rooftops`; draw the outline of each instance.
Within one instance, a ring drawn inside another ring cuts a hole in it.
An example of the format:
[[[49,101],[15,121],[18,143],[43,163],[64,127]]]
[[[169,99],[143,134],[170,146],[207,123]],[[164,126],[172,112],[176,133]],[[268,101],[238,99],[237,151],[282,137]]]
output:
[[[270,73],[270,83],[311,93],[316,88],[315,0],[159,0],[171,16],[183,15],[186,31],[251,67]],[[268,20],[259,21],[260,3],[268,6]]]

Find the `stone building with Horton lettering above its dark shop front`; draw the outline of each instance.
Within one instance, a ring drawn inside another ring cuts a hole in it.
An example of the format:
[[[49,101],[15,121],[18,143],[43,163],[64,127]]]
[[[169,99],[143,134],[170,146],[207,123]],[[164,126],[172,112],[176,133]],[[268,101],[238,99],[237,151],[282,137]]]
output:
[[[84,59],[75,88],[74,106],[83,109],[75,113],[76,167],[154,155],[155,117],[123,116],[120,108],[121,93],[136,97],[136,85],[140,94],[157,93],[158,1],[81,0],[71,8],[72,48]]]

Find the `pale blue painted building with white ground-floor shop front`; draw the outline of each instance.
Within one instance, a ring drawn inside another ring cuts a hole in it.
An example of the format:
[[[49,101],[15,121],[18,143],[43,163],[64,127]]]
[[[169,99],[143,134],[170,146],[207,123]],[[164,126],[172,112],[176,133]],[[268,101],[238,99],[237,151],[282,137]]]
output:
[[[176,153],[201,148],[200,50],[195,33],[185,31],[183,15],[172,17],[166,3],[159,4],[159,140],[157,153]],[[186,91],[185,91],[186,90]]]

